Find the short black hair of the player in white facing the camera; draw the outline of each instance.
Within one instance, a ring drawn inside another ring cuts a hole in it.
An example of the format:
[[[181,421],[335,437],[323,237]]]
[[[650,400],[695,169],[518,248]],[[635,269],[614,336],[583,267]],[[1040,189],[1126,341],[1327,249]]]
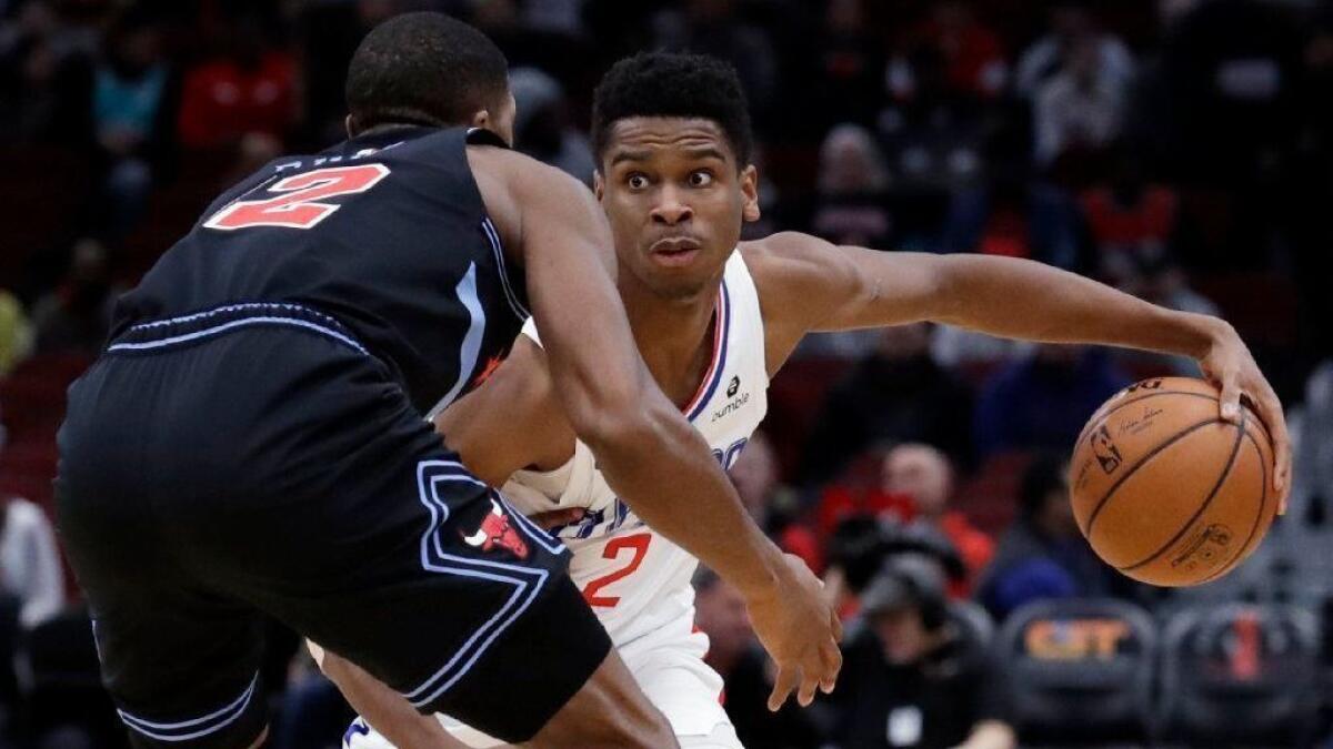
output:
[[[706,55],[641,52],[612,65],[593,95],[592,140],[599,161],[612,125],[627,117],[712,120],[730,141],[738,167],[749,164],[754,149],[736,68]]]

